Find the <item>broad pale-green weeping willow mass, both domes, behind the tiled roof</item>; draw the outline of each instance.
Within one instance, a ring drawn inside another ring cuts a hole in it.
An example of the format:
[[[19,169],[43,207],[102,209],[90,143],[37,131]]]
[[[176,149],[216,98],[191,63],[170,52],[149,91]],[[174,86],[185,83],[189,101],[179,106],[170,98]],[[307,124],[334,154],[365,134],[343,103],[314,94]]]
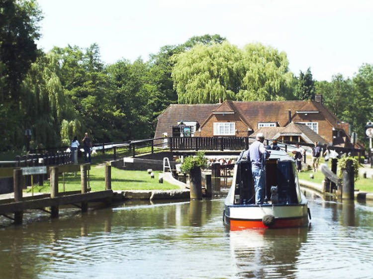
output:
[[[176,55],[172,72],[179,103],[293,99],[293,74],[284,52],[249,44],[197,45]]]

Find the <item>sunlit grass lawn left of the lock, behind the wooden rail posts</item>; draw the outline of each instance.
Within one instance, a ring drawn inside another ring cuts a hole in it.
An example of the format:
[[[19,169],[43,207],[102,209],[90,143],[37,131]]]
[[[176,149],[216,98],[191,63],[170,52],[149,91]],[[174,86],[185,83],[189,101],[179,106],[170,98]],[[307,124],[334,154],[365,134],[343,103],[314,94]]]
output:
[[[111,168],[111,189],[112,190],[173,190],[180,189],[166,181],[158,183],[158,173],[154,171],[155,178],[150,178],[147,171],[130,171]],[[90,170],[91,191],[105,190],[105,168],[102,165],[92,165]],[[65,173],[65,191],[81,190],[80,172],[77,176],[74,173]],[[26,190],[31,192],[31,188]],[[63,192],[63,176],[59,176],[58,191]],[[43,186],[34,185],[34,192],[50,193],[50,183],[44,181]]]

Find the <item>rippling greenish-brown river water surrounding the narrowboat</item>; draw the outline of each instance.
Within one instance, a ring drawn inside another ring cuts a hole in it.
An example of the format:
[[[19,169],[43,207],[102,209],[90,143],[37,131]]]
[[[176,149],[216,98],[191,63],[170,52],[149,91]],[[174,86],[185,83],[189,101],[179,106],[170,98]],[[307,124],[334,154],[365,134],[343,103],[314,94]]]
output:
[[[0,278],[373,278],[373,204],[307,199],[292,229],[230,232],[223,199],[28,214],[0,229]]]

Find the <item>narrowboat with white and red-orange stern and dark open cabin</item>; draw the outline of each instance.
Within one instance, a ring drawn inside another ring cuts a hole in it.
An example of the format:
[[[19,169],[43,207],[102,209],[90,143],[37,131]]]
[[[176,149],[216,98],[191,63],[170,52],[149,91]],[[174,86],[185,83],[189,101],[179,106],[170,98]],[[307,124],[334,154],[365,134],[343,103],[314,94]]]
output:
[[[265,202],[255,204],[251,162],[243,153],[234,166],[232,186],[224,202],[223,221],[230,230],[307,226],[311,214],[292,157],[284,150],[271,150],[264,164]]]

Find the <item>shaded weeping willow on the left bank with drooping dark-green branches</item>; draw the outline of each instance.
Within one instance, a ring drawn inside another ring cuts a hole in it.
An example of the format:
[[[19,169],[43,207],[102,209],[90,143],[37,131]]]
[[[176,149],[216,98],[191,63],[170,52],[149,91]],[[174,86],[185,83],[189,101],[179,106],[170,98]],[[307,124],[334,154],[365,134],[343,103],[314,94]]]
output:
[[[82,128],[71,100],[64,94],[58,70],[57,56],[50,52],[31,65],[22,83],[24,123],[32,130],[33,148],[66,144]]]

